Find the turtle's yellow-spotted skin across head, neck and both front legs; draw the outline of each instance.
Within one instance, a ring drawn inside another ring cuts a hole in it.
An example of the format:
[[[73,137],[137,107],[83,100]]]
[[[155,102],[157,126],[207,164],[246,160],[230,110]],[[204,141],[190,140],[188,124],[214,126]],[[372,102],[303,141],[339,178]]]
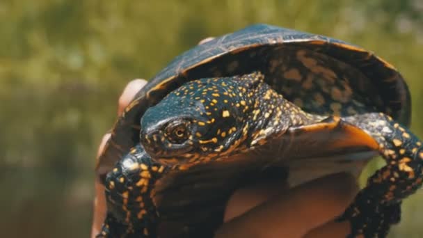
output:
[[[365,111],[361,105],[353,109]],[[422,142],[384,113],[342,113],[344,123],[374,138],[387,166],[369,178],[339,220],[351,221],[349,237],[385,237],[390,225],[399,222],[401,200],[422,184]],[[106,235],[99,237],[157,235],[157,223],[166,209],[156,207],[154,187],[163,183],[166,173],[229,160],[282,140],[288,129],[301,132],[307,125],[329,126],[332,118],[306,113],[266,84],[260,72],[184,84],[145,112],[142,145],[107,175],[109,216]]]

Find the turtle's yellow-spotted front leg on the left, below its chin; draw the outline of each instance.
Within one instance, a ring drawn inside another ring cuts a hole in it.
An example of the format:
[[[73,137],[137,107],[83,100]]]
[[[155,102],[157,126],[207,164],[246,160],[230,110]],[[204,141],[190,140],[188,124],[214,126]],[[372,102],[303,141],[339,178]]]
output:
[[[106,177],[108,214],[97,237],[155,237],[157,211],[152,189],[168,169],[154,163],[141,145],[131,149]]]

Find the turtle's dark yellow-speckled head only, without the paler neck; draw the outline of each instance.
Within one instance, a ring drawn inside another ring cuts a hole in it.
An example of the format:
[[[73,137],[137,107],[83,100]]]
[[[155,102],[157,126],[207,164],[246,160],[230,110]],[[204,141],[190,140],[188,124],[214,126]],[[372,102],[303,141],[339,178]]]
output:
[[[141,143],[157,159],[218,157],[246,137],[262,74],[190,81],[168,94],[141,118]]]

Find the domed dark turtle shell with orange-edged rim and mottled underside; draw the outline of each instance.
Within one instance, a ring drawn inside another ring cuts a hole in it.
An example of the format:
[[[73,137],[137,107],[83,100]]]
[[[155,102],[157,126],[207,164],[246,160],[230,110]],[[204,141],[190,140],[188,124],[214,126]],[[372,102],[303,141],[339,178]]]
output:
[[[139,142],[143,113],[172,90],[194,79],[257,70],[304,111],[343,116],[346,112],[324,104],[324,97],[342,102],[353,95],[360,99],[353,102],[366,104],[370,111],[384,112],[403,125],[410,122],[410,94],[403,77],[371,51],[322,35],[257,24],[193,47],[153,77],[115,123],[97,173],[104,177]],[[325,80],[314,85],[316,77]],[[314,95],[317,87],[326,92],[324,97]],[[321,105],[308,107],[315,103]]]

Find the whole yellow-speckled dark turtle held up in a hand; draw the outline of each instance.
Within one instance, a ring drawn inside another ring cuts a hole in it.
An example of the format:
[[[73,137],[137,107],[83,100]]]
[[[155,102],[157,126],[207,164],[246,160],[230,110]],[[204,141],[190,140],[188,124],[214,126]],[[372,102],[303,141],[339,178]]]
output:
[[[385,166],[337,221],[349,237],[385,237],[422,184],[410,114],[406,81],[372,51],[266,24],[214,38],[171,61],[115,122],[96,167],[107,203],[97,237],[212,237],[245,183],[357,177],[378,155]]]

